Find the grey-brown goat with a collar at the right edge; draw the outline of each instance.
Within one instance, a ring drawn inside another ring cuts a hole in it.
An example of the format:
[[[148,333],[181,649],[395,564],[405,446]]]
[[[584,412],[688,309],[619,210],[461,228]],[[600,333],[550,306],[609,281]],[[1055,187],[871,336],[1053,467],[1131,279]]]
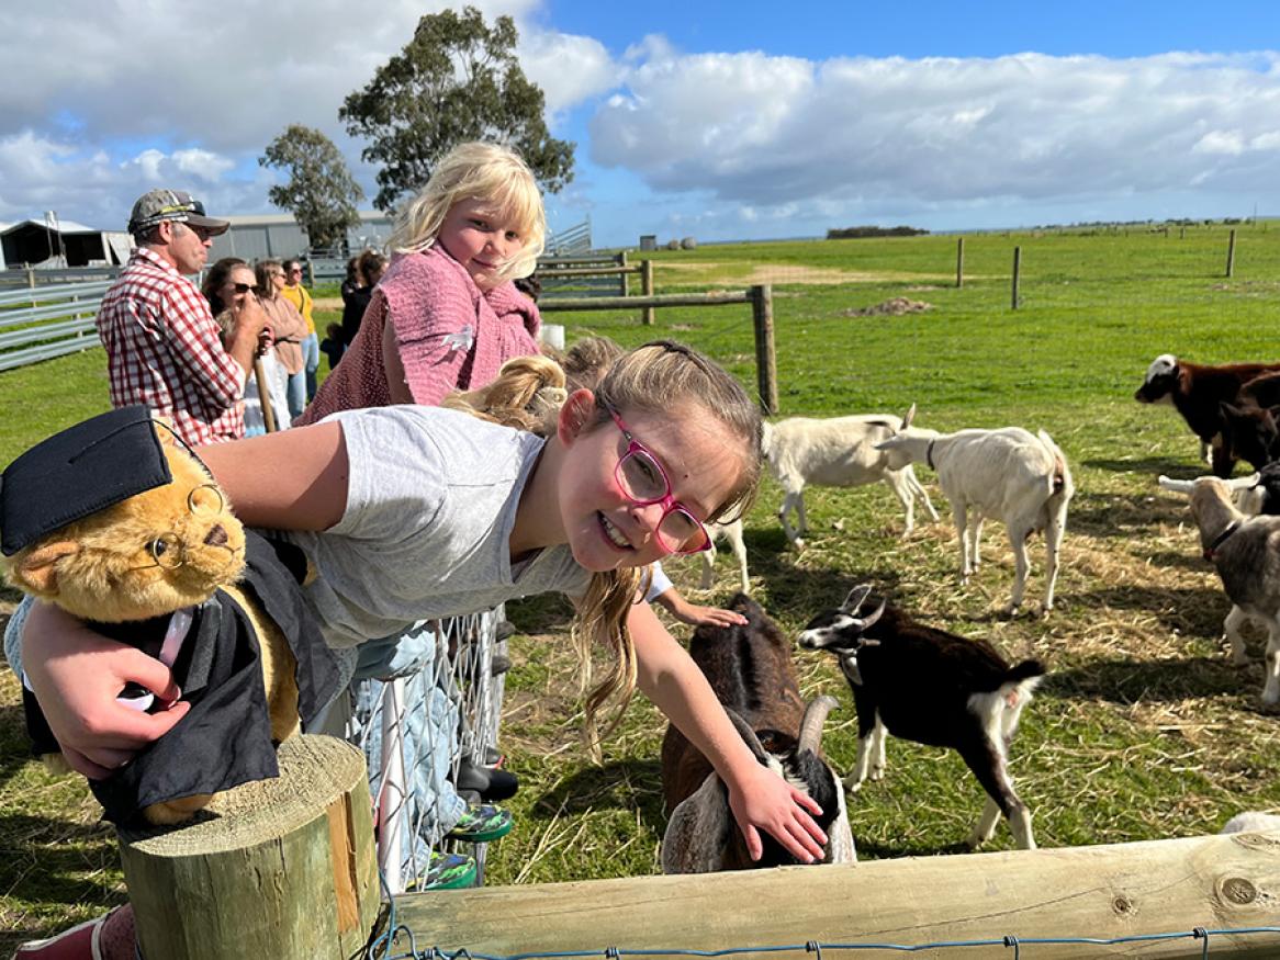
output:
[[[1222,632],[1231,644],[1231,663],[1249,662],[1240,627],[1253,617],[1267,630],[1262,685],[1262,704],[1280,703],[1280,516],[1248,516],[1233,503],[1233,485],[1243,486],[1252,477],[1226,481],[1208,476],[1190,481],[1190,508],[1199,529],[1201,549],[1213,563],[1231,609],[1222,621]],[[1268,480],[1274,484],[1276,471]],[[1187,481],[1160,477],[1161,488],[1185,492]],[[1265,488],[1266,489],[1266,488]],[[1270,490],[1263,504],[1275,508]]]

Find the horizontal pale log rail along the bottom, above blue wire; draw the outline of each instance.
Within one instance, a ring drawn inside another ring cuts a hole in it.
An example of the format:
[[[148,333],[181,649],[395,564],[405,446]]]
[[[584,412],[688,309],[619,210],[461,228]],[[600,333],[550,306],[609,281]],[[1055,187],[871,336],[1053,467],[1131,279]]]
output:
[[[799,945],[1032,938],[1142,943],[1024,943],[1036,960],[1280,956],[1280,835],[872,860],[838,867],[433,891],[396,899],[421,951],[732,950]],[[1213,933],[1263,928],[1254,933]],[[1271,928],[1267,931],[1266,928]],[[877,956],[881,951],[874,951]],[[961,951],[1012,960],[1007,947]],[[950,955],[928,951],[922,956]],[[836,955],[836,954],[832,954]],[[844,951],[840,956],[846,956]],[[886,954],[887,955],[887,954]],[[810,954],[812,956],[812,954]],[[858,952],[861,956],[861,952]],[[960,954],[957,954],[960,956]]]

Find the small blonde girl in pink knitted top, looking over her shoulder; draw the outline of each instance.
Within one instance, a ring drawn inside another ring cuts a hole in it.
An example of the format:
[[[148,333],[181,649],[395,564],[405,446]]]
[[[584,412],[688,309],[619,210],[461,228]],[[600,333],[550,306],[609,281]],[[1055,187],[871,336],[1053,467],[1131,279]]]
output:
[[[507,147],[463,143],[396,219],[392,264],[342,364],[300,424],[388,403],[436,404],[538,353],[541,317],[511,282],[532,273],[547,218]]]

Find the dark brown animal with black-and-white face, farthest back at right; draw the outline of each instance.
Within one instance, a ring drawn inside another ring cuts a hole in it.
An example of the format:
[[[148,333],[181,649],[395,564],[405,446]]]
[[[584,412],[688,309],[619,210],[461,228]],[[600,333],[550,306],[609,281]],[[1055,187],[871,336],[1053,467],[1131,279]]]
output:
[[[1201,456],[1216,476],[1230,476],[1235,456],[1222,436],[1222,404],[1234,403],[1240,388],[1263,374],[1280,371],[1280,364],[1226,364],[1204,366],[1161,353],[1133,398],[1139,403],[1171,403],[1192,433],[1201,439]]]

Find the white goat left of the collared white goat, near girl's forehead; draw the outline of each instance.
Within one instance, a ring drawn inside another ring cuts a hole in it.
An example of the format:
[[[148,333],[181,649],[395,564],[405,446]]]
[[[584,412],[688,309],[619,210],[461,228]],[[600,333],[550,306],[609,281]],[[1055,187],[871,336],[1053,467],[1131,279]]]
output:
[[[929,502],[929,494],[915,479],[911,466],[909,463],[890,466],[888,457],[876,449],[877,443],[892,436],[900,426],[910,426],[914,415],[913,406],[901,419],[886,413],[869,413],[828,420],[791,417],[764,425],[764,456],[785,494],[782,507],[778,508],[778,520],[782,521],[782,532],[792,547],[804,548],[800,535],[809,529],[804,513],[804,488],[808,484],[861,486],[883,481],[906,512],[904,538],[915,527],[916,497],[928,511],[929,518],[934,521],[938,518],[937,511]],[[795,530],[787,524],[787,515],[791,511],[799,517],[799,526]]]

